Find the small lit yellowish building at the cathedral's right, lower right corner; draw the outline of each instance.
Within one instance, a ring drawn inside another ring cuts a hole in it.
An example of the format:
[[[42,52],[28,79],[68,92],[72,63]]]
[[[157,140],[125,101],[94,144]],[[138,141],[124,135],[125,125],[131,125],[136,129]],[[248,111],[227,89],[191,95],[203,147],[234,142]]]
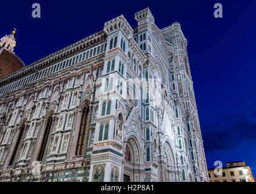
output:
[[[211,182],[255,182],[249,166],[245,161],[226,162],[221,175],[215,175],[214,169],[208,169]]]

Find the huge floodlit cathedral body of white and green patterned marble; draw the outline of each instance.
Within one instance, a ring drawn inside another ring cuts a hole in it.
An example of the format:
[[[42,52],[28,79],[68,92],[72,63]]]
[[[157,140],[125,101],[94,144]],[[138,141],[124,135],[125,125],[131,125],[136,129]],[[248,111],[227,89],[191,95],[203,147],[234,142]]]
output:
[[[0,78],[0,181],[209,181],[180,24],[135,19]]]

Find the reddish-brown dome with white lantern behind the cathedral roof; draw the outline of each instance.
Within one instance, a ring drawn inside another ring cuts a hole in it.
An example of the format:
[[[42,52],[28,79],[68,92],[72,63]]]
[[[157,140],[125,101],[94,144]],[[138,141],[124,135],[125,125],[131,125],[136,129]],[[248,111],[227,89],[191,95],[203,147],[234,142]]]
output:
[[[13,52],[16,46],[15,32],[16,30],[13,30],[12,34],[2,37],[0,41],[0,78],[25,66]]]

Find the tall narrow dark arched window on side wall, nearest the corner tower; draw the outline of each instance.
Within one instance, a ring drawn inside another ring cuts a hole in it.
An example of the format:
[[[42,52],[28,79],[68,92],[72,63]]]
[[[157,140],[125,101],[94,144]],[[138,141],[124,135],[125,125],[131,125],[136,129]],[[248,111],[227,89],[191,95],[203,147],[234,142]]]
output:
[[[83,115],[81,119],[81,125],[79,129],[78,144],[76,147],[76,156],[82,155],[83,147],[85,145],[85,136],[87,128],[87,118],[89,115],[89,107],[84,107]]]

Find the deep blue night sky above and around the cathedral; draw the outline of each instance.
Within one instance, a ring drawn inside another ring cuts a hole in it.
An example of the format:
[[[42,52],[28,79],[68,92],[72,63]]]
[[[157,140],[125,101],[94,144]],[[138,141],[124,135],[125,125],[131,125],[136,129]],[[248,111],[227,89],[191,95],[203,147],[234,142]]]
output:
[[[41,18],[31,16],[41,4]],[[214,18],[214,4],[223,18]],[[254,1],[1,1],[0,36],[15,27],[15,53],[29,64],[103,29],[123,14],[149,7],[159,28],[180,22],[188,55],[206,160],[246,161],[256,178],[255,6]]]

